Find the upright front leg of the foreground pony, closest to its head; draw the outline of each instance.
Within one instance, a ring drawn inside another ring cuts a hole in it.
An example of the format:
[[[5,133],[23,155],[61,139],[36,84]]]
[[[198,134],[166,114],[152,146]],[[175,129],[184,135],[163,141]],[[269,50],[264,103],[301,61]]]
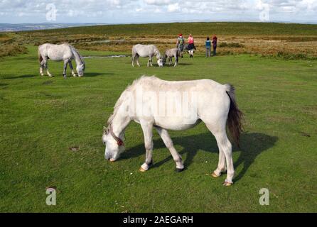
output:
[[[153,124],[148,122],[140,122],[141,128],[144,133],[144,146],[146,150],[146,158],[143,165],[140,167],[141,172],[146,172],[149,167],[153,164],[152,154],[153,154]]]

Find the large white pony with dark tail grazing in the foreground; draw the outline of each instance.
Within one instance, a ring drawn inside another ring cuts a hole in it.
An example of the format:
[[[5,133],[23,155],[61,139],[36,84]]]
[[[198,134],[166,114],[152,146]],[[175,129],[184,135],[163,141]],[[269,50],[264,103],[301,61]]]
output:
[[[227,170],[224,185],[230,186],[235,170],[226,126],[239,144],[241,118],[235,89],[230,84],[222,85],[211,79],[169,82],[157,77],[141,77],[121,94],[108,120],[109,126],[104,127],[104,156],[112,162],[119,158],[124,151],[124,130],[131,121],[136,121],[143,130],[146,149],[146,160],[140,171],[149,170],[153,163],[152,129],[156,128],[176,162],[176,171],[180,172],[184,169],[183,160],[174,148],[168,130],[193,128],[203,121],[215,136],[219,148],[219,163],[212,176],[219,177]]]

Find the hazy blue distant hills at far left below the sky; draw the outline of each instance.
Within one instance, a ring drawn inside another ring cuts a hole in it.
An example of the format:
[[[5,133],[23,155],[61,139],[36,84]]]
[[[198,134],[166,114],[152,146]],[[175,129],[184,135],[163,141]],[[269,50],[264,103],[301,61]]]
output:
[[[2,31],[35,31],[44,29],[70,28],[81,26],[97,26],[102,23],[0,23]]]

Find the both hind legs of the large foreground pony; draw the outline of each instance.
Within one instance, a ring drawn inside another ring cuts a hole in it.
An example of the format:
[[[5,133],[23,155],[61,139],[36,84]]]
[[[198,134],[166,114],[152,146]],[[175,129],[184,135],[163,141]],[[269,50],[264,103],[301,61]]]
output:
[[[220,131],[213,131],[213,127],[207,125],[208,129],[213,133],[217,140],[217,145],[219,148],[219,162],[218,167],[215,172],[213,172],[213,177],[219,177],[222,172],[225,172],[227,165],[227,178],[223,185],[230,186],[233,184],[232,179],[235,175],[235,168],[233,167],[233,160],[232,160],[232,145],[230,140],[227,138],[227,133],[225,129]]]

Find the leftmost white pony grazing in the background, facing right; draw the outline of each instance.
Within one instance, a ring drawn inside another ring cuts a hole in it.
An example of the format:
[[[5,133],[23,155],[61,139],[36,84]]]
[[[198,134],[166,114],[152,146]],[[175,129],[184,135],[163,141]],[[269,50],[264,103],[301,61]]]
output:
[[[45,68],[46,73],[49,77],[52,77],[52,74],[48,72],[48,59],[53,61],[63,61],[64,62],[64,71],[63,76],[66,77],[67,65],[70,65],[72,70],[72,76],[76,77],[74,70],[72,69],[72,60],[76,62],[76,70],[78,77],[84,76],[85,72],[85,62],[82,60],[80,53],[69,45],[68,43],[63,43],[60,45],[45,43],[38,47],[38,60],[40,61],[40,74],[43,76],[43,68]]]

